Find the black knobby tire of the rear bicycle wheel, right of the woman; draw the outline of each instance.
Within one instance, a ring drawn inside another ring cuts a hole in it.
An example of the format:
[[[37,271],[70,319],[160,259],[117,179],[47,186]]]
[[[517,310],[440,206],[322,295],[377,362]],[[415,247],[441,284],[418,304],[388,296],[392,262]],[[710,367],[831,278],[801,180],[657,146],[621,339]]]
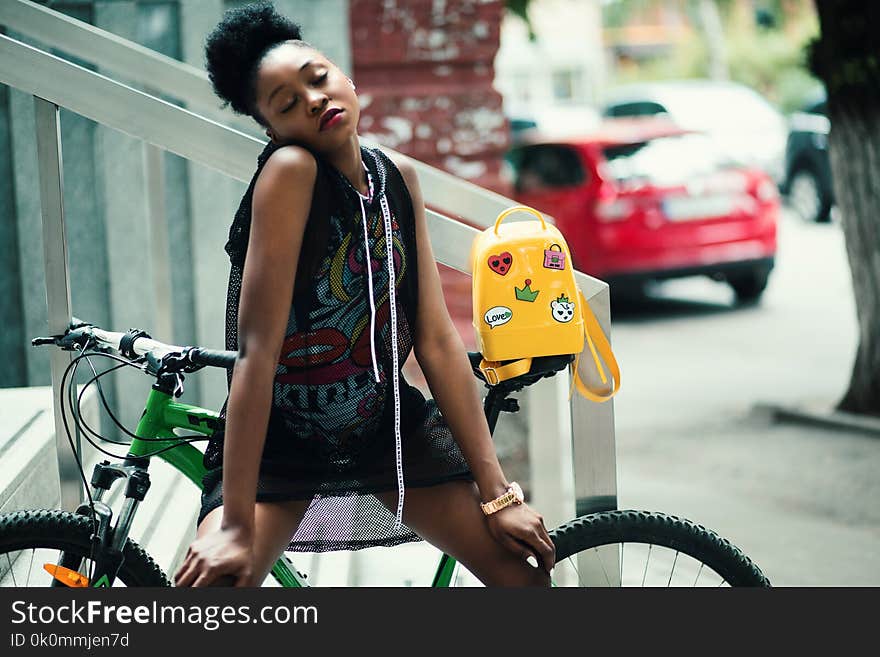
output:
[[[549,533],[556,547],[557,564],[594,548],[639,543],[675,550],[676,559],[679,553],[685,554],[702,564],[701,570],[708,566],[730,586],[770,586],[770,580],[742,550],[684,518],[648,511],[604,511],[575,518]]]

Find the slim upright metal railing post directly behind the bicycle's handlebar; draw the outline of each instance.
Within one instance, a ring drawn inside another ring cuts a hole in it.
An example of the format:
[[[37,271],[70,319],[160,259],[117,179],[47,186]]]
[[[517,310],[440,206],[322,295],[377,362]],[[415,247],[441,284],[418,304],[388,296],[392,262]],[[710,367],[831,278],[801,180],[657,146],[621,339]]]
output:
[[[40,209],[43,223],[43,259],[46,267],[46,306],[49,332],[63,333],[70,325],[70,269],[67,259],[67,234],[64,226],[64,180],[61,164],[61,123],[58,106],[34,96],[37,131],[37,169],[40,178]],[[76,457],[71,454],[61,412],[61,377],[70,364],[70,352],[52,349],[52,405],[55,413],[55,446],[58,451],[58,476],[61,506],[74,510],[83,500],[82,482]],[[70,409],[67,426],[73,431],[76,453],[80,454],[80,436]]]

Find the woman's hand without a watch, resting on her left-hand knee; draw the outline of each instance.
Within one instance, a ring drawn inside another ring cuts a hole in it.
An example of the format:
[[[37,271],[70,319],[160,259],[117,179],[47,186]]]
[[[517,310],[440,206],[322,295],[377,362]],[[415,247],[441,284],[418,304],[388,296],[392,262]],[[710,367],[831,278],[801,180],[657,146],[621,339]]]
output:
[[[193,541],[174,575],[175,586],[210,586],[227,580],[233,586],[253,582],[253,539],[237,528],[218,529]]]

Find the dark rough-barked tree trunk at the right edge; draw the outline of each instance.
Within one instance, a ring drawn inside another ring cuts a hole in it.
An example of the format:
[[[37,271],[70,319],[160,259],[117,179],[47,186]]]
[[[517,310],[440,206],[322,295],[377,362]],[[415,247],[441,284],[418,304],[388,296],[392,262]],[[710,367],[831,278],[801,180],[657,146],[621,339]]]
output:
[[[859,322],[849,389],[838,408],[880,416],[880,50],[878,3],[816,0],[821,36],[810,67],[825,82],[834,194]]]

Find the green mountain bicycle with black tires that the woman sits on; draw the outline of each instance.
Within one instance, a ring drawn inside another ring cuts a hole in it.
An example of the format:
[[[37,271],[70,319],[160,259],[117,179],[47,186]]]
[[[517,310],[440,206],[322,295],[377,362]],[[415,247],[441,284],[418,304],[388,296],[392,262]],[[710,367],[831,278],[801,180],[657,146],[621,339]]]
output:
[[[62,377],[71,405],[74,422],[95,447],[108,453],[89,436],[101,436],[90,429],[80,416],[80,403],[88,386],[97,384],[104,406],[120,427],[107,405],[101,390],[100,378],[121,367],[132,366],[155,378],[147,397],[144,412],[134,433],[122,430],[131,437],[121,463],[103,460],[94,466],[89,484],[86,484],[80,455],[74,454],[85,485],[88,501],[75,512],[59,509],[24,510],[0,515],[0,584],[19,586],[24,573],[24,584],[30,585],[34,562],[42,580],[36,585],[102,587],[170,586],[166,574],[134,540],[129,537],[132,520],[138,504],[149,488],[150,459],[158,456],[186,476],[197,487],[201,486],[205,468],[202,452],[193,446],[198,440],[208,440],[222,427],[219,413],[175,401],[183,393],[186,374],[203,367],[232,368],[237,356],[232,351],[217,351],[201,347],[178,347],[153,340],[148,333],[130,329],[127,333],[104,331],[99,327],[74,319],[62,335],[38,337],[33,346],[53,345],[63,350],[79,351]],[[121,364],[98,373],[90,357],[103,356]],[[514,392],[549,376],[554,376],[571,362],[570,356],[535,358],[531,370],[519,377],[490,385],[478,368],[481,354],[470,353],[475,376],[488,388],[483,408],[489,429],[494,432],[501,412],[517,412]],[[76,368],[85,359],[95,374],[81,389],[76,403],[71,390]],[[62,395],[62,415],[64,399]],[[73,449],[66,415],[64,426]],[[195,432],[181,436],[175,429]],[[113,455],[116,456],[116,455]],[[114,524],[113,510],[103,500],[117,479],[124,479],[125,498]],[[645,586],[650,575],[652,582],[658,574],[660,583],[670,586],[770,586],[769,580],[742,551],[715,532],[684,518],[663,513],[611,510],[591,513],[552,529],[550,536],[556,547],[556,567],[553,584],[556,586],[583,585],[586,571],[609,585]],[[641,555],[647,547],[644,565]],[[656,551],[655,551],[656,550]],[[52,558],[47,559],[47,551]],[[28,552],[30,555],[27,556]],[[54,553],[57,552],[57,557]],[[651,562],[654,552],[654,562]],[[660,552],[659,557],[656,553]],[[634,556],[635,553],[635,556]],[[634,564],[635,560],[635,564]],[[671,568],[668,566],[671,560]],[[682,565],[676,576],[676,567]],[[447,587],[455,583],[456,561],[442,554],[432,586]],[[669,568],[668,575],[666,569]],[[285,587],[307,586],[304,573],[282,553],[273,565],[271,576]],[[702,581],[701,581],[702,578]]]

